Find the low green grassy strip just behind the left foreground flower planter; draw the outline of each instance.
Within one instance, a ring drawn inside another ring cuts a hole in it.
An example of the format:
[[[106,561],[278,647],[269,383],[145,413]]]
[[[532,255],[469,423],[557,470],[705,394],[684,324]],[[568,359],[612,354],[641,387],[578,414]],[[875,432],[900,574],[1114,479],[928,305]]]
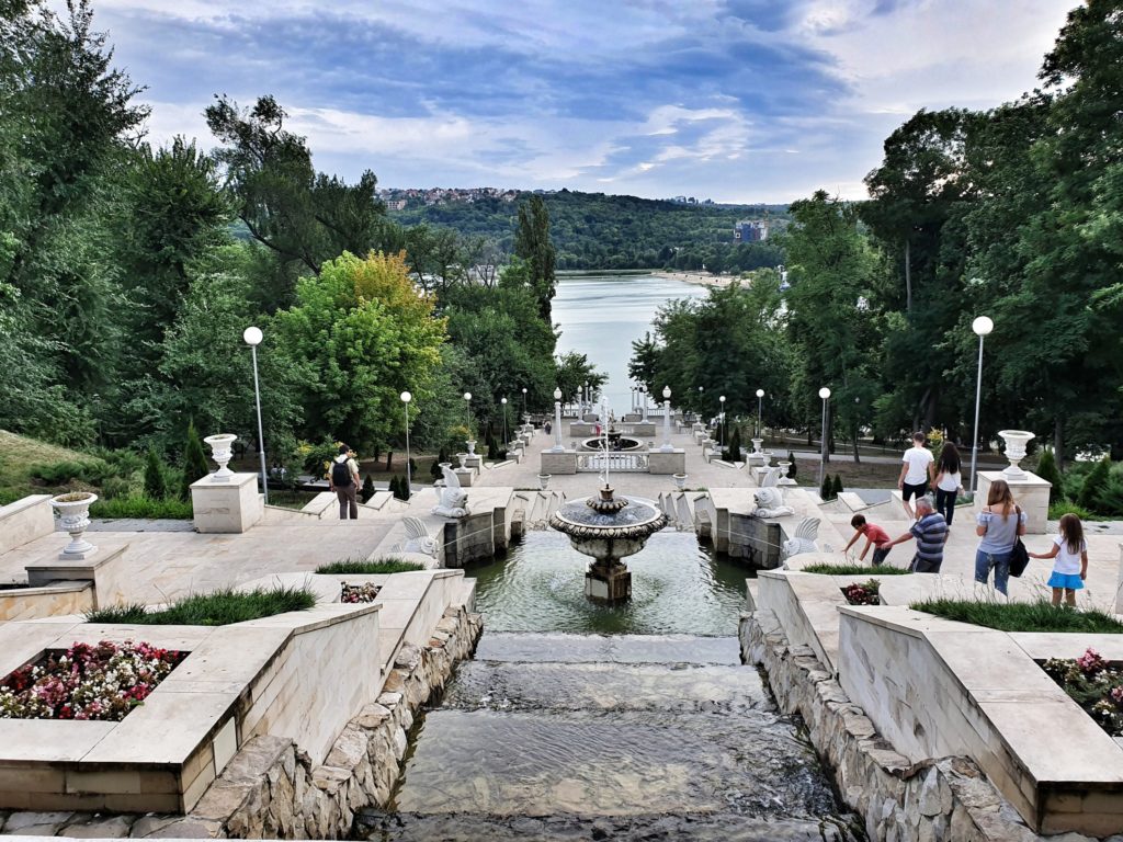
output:
[[[85,615],[88,623],[134,625],[229,625],[259,620],[286,611],[304,611],[316,605],[308,588],[273,587],[254,591],[223,588],[176,600],[166,608],[148,613],[143,605],[98,608]]]

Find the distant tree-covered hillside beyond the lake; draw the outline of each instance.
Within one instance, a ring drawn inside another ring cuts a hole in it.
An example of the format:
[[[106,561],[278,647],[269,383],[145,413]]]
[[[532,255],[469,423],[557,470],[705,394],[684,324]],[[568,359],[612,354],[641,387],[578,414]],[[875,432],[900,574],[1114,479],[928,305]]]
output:
[[[529,195],[520,193],[514,201],[485,196],[472,202],[407,204],[391,211],[391,217],[402,225],[428,222],[484,236],[510,251],[519,202]],[[786,204],[684,204],[568,190],[542,198],[562,269],[699,268],[703,263],[707,268],[743,269],[783,262],[782,253],[767,242],[734,246],[733,225],[767,218],[775,234],[788,221]]]

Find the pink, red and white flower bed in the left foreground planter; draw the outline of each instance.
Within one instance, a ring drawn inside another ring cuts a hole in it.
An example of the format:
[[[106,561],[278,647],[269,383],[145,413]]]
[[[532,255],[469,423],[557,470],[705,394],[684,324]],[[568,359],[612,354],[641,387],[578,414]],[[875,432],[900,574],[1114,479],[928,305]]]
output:
[[[0,680],[0,719],[120,722],[186,657],[148,643],[74,643]]]

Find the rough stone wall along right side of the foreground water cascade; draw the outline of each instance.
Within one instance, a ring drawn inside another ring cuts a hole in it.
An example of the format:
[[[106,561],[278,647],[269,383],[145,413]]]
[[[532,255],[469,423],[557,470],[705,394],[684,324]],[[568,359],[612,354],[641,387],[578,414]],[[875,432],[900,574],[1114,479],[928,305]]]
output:
[[[761,665],[785,713],[800,714],[842,800],[866,820],[871,842],[1037,842],[1040,836],[966,758],[912,763],[851,703],[806,646],[792,646],[770,611],[741,616],[741,657]],[[1117,842],[1123,838],[1112,838]]]

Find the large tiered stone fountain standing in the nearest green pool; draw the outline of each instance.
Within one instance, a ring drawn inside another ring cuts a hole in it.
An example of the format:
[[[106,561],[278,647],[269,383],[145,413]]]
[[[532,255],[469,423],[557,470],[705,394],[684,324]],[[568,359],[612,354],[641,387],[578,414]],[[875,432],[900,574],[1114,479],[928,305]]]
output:
[[[667,520],[652,501],[615,496],[605,482],[600,495],[558,509],[550,527],[569,536],[577,552],[593,557],[585,571],[585,596],[613,605],[631,598],[631,571],[620,559],[643,549]]]

